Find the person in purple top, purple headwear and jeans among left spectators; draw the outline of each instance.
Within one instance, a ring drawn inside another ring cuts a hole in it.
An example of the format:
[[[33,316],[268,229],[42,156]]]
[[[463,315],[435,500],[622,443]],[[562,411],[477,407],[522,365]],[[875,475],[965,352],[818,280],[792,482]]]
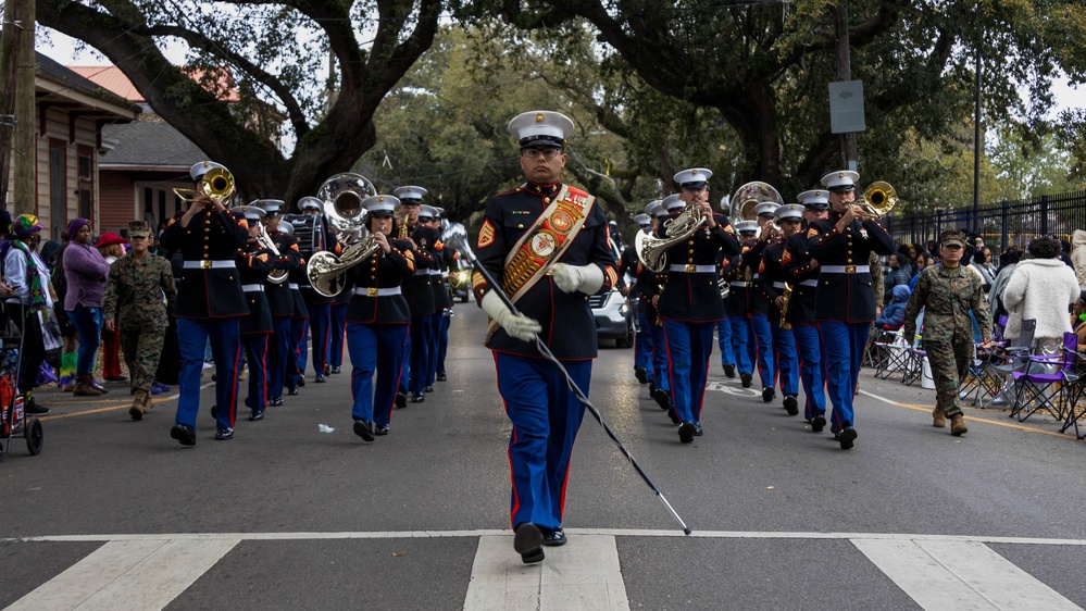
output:
[[[75,323],[79,336],[79,351],[75,363],[76,397],[98,397],[105,392],[96,388],[90,379],[95,371],[95,356],[101,342],[102,296],[105,292],[105,276],[110,264],[95,248],[90,221],[75,219],[67,224],[67,238],[71,240],[64,251],[64,279],[67,294],[64,296],[64,311]]]

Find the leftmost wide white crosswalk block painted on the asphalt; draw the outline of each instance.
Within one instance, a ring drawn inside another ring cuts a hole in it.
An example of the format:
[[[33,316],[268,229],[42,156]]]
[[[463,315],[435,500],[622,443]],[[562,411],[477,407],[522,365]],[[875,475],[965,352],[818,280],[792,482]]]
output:
[[[161,535],[110,541],[8,609],[162,609],[237,544],[237,538]]]

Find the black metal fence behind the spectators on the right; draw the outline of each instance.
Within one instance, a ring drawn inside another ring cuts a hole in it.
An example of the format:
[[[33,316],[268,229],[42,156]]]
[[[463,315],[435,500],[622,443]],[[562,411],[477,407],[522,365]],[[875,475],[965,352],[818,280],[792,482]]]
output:
[[[927,216],[890,214],[883,225],[898,244],[920,244],[925,250],[940,233],[965,228],[984,236],[984,242],[998,255],[1009,246],[1025,248],[1037,236],[1054,235],[1071,241],[1075,229],[1086,229],[1086,191],[941,210]]]

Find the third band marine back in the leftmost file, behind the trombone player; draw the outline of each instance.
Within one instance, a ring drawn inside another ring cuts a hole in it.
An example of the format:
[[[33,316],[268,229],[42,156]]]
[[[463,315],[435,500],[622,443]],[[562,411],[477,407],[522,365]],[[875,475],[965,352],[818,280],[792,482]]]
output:
[[[259,199],[252,201],[250,205],[262,208],[266,213],[261,222],[264,223],[264,230],[279,252],[272,262],[272,267],[288,273],[300,267],[301,253],[298,250],[298,240],[282,230],[290,226],[288,223],[280,223],[283,200]],[[267,404],[277,407],[283,404],[287,362],[294,350],[290,344],[290,321],[295,315],[295,297],[289,280],[284,278],[275,283],[265,278],[264,298],[267,299],[267,306],[272,311],[272,337],[267,349]]]

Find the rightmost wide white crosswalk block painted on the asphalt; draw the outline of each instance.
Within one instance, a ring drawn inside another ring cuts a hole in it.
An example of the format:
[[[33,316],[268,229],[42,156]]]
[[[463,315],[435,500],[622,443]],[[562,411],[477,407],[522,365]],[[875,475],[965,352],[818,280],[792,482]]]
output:
[[[852,545],[928,611],[1082,611],[977,541],[853,539]]]

